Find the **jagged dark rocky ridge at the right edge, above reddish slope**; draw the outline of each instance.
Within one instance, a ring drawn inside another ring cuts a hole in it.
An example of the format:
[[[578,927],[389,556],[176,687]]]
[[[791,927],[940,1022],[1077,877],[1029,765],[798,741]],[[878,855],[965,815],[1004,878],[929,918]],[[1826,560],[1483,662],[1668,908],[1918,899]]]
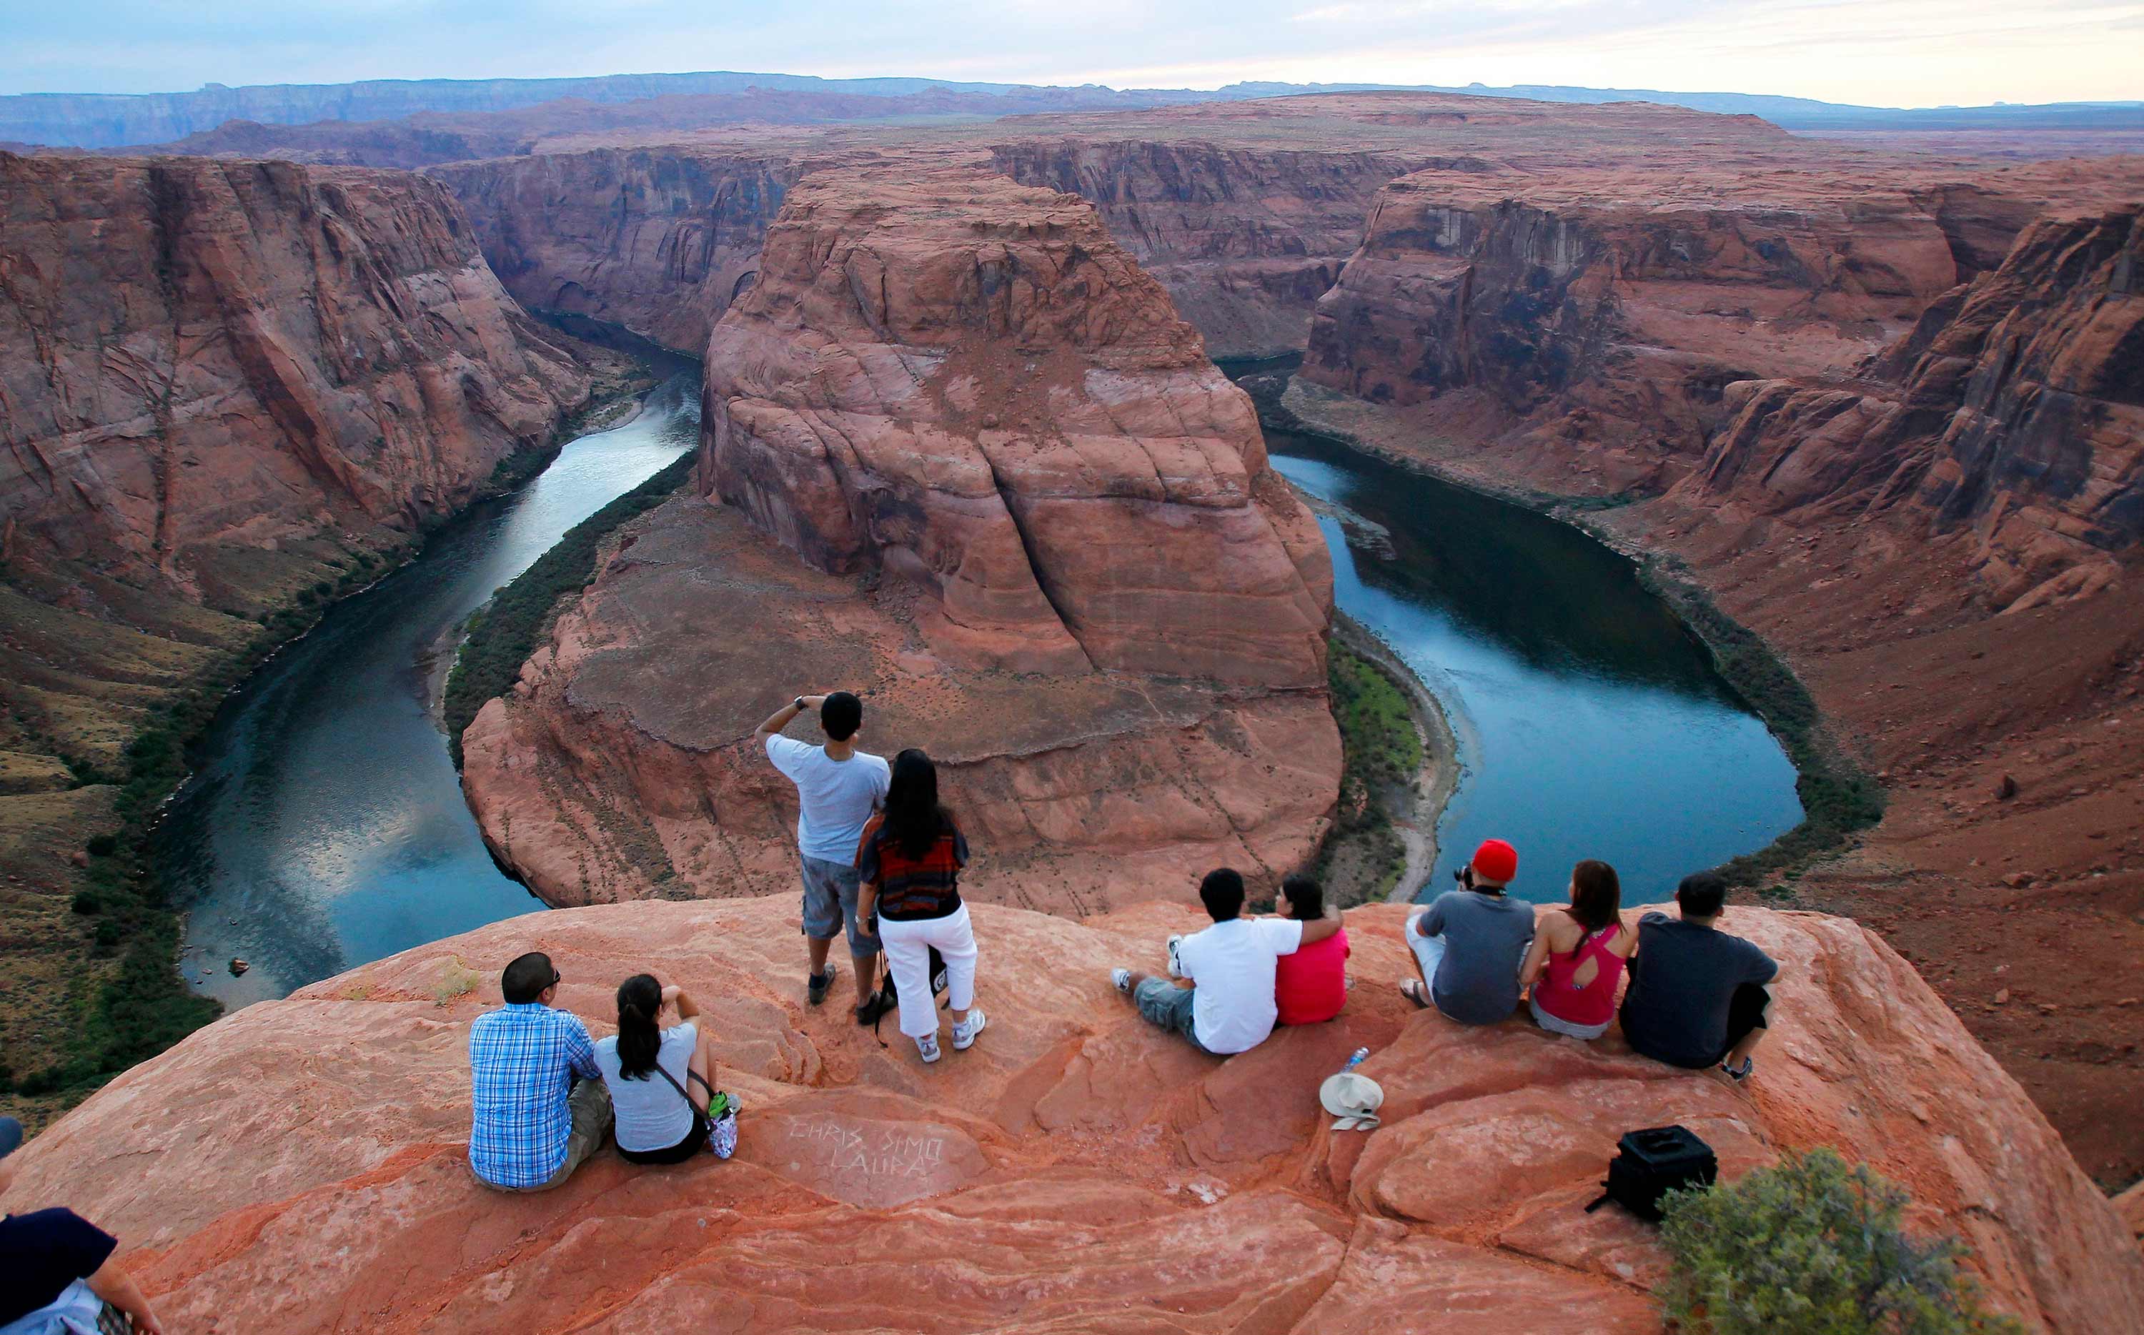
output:
[[[2140,274],[2135,208],[2035,223],[1865,377],[1730,386],[1692,504],[1957,536],[1996,609],[2114,583],[2144,540]]]

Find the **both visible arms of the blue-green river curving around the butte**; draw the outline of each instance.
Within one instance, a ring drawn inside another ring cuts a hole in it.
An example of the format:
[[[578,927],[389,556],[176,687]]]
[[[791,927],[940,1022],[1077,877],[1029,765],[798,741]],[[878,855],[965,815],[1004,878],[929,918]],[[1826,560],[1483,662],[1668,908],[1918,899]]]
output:
[[[678,375],[637,420],[442,529],[232,696],[159,834],[195,988],[234,1007],[283,996],[540,906],[491,864],[463,804],[431,711],[435,660],[566,529],[690,448],[695,381]],[[1340,606],[1415,666],[1460,737],[1432,887],[1501,834],[1529,896],[1606,857],[1627,896],[1659,898],[1799,821],[1777,741],[1629,561],[1316,437],[1267,441],[1289,480],[1349,516],[1321,519]]]

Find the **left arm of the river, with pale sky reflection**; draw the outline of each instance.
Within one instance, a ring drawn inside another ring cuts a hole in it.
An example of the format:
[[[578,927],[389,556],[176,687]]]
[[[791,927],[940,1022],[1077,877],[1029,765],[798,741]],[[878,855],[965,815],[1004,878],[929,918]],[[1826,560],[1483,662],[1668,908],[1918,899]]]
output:
[[[491,864],[433,720],[437,649],[560,536],[693,448],[699,373],[339,602],[234,694],[159,829],[180,969],[238,1007],[540,909]],[[238,956],[251,969],[232,977]]]

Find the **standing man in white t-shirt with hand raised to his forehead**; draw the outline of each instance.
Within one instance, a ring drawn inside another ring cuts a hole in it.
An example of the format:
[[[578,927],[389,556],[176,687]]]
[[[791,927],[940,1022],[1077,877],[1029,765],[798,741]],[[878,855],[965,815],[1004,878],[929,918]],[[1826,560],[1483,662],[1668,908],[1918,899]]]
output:
[[[815,709],[825,746],[783,737],[798,714]],[[883,756],[855,750],[864,726],[864,703],[847,690],[800,694],[768,716],[753,739],[774,767],[798,786],[798,853],[804,857],[804,936],[810,943],[810,977],[804,996],[825,1001],[834,971],[825,962],[834,934],[847,928],[849,962],[855,964],[855,1022],[870,1024],[885,1009],[879,1001],[879,939],[855,921],[855,844],[870,812],[885,801],[892,767]]]

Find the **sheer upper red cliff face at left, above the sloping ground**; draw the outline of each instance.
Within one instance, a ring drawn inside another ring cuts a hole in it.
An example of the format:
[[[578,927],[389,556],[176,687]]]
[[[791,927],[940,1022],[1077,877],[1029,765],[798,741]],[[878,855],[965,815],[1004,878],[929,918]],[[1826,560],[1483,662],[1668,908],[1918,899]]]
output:
[[[399,174],[0,154],[0,523],[204,598],[232,549],[414,527],[587,377]]]

